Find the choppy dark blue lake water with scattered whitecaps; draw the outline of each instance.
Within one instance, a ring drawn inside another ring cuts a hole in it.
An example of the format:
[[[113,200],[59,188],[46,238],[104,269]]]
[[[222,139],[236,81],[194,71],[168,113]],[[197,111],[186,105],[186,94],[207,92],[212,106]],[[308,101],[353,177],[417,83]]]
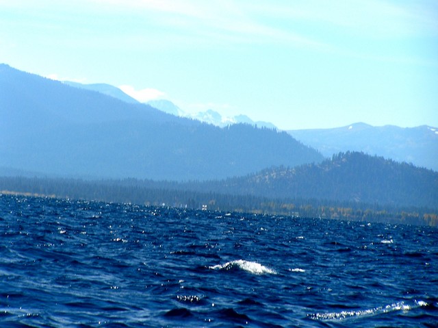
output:
[[[1,196],[0,327],[438,327],[438,230]]]

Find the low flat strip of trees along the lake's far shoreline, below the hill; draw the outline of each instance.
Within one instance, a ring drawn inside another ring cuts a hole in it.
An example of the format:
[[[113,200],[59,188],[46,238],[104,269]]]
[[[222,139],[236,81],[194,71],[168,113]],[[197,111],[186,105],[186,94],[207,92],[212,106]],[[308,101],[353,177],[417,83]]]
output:
[[[438,225],[436,210],[329,199],[269,198],[171,188],[172,182],[151,180],[83,180],[41,177],[0,177],[1,193],[86,199],[138,205],[188,207],[222,212],[246,212],[366,222]]]

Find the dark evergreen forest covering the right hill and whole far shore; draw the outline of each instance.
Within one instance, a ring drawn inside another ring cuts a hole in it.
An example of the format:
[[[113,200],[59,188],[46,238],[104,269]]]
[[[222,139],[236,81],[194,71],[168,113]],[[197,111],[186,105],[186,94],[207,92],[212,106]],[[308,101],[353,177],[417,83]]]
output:
[[[349,165],[343,170],[342,164],[346,163]],[[373,165],[377,173],[371,174],[372,168],[370,171],[363,168]],[[296,181],[307,183],[300,185]],[[363,153],[339,153],[322,164],[271,168],[223,181],[0,177],[0,191],[222,212],[435,226],[437,181],[438,173],[411,164]],[[316,185],[321,187],[315,188]],[[363,199],[358,199],[357,192]],[[411,196],[409,201],[405,201],[407,194]]]

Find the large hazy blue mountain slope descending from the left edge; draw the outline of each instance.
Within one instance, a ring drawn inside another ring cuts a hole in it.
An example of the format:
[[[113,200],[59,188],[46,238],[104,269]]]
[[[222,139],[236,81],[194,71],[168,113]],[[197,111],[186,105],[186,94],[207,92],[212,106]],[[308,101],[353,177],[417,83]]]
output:
[[[219,128],[0,64],[0,167],[69,177],[218,179],[319,162],[286,134]]]

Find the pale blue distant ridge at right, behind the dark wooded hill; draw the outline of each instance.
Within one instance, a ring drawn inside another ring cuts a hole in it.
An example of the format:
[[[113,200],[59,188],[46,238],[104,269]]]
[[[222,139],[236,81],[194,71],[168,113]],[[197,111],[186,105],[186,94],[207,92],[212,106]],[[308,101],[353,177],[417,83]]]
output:
[[[304,144],[318,149],[326,157],[340,151],[363,151],[438,171],[437,127],[373,127],[365,123],[355,123],[334,129],[287,132]]]

